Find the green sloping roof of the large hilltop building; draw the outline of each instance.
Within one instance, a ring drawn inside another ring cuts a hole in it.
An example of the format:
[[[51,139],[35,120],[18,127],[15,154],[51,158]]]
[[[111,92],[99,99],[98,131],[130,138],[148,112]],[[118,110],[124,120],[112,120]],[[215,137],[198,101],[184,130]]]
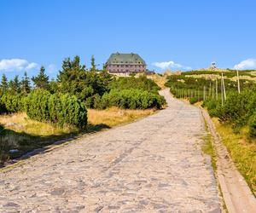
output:
[[[109,64],[140,64],[140,65],[146,65],[145,61],[141,58],[140,55],[137,54],[112,54],[110,55],[107,65]]]

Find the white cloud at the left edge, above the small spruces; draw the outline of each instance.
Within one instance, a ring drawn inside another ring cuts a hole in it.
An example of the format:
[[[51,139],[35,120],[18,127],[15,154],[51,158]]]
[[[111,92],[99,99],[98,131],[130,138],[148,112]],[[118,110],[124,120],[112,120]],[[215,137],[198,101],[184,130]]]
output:
[[[28,62],[24,59],[3,59],[0,60],[0,70],[5,72],[24,71],[38,68],[38,64]]]

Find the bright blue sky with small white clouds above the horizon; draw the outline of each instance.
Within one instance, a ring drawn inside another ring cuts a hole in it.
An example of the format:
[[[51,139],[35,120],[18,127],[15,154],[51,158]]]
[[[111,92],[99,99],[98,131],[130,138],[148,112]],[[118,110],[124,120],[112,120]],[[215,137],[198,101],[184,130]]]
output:
[[[255,0],[1,0],[0,75],[137,53],[149,70],[256,69]]]

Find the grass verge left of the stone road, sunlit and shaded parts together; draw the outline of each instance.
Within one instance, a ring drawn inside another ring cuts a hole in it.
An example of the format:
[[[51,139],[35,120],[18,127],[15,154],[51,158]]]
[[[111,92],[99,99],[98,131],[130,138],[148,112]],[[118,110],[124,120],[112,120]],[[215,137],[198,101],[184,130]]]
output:
[[[0,127],[4,126],[5,130],[2,130],[3,134],[0,135],[0,166],[9,158],[19,158],[24,153],[45,147],[55,141],[132,122],[154,112],[154,109],[124,110],[117,107],[107,110],[90,109],[88,128],[82,131],[73,127],[60,128],[53,124],[38,122],[28,118],[26,113],[1,115]],[[10,149],[17,149],[19,152],[9,153]]]

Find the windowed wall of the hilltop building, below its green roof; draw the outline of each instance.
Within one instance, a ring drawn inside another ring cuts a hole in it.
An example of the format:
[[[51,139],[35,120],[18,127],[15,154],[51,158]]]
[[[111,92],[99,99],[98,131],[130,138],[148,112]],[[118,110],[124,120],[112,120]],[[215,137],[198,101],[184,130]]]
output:
[[[145,72],[146,66],[144,65],[108,65],[108,72]]]

